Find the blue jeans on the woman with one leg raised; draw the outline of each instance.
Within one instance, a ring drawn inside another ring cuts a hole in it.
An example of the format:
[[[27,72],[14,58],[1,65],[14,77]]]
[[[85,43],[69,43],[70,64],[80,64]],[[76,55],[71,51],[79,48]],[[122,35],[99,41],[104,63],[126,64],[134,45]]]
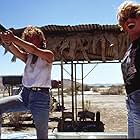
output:
[[[30,110],[35,123],[37,139],[48,139],[49,104],[49,93],[32,91],[24,87],[18,95],[0,99],[0,114]]]

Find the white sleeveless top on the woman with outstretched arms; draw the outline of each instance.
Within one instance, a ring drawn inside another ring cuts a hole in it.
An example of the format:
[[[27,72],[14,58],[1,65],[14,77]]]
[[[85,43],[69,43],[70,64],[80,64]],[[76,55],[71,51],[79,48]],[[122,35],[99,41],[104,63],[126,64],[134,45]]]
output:
[[[51,69],[52,63],[48,63],[46,60],[39,58],[35,64],[31,64],[32,55],[28,55],[24,74],[22,78],[22,84],[25,87],[48,87],[51,88]]]

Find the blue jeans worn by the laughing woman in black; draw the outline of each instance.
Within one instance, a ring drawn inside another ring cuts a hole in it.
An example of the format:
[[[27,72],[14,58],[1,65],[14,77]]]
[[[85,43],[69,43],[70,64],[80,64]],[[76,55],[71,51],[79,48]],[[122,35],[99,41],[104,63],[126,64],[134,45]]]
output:
[[[128,138],[140,139],[140,90],[137,90],[126,99],[128,110]]]

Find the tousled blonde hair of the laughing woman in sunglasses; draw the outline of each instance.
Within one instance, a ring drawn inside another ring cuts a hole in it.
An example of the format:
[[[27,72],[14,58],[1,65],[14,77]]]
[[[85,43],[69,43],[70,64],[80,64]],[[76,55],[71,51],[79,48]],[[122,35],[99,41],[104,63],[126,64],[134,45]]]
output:
[[[130,16],[136,17],[139,15],[140,15],[140,4],[130,0],[124,1],[118,7],[117,11],[118,25],[120,26],[121,30],[123,30],[123,25]]]

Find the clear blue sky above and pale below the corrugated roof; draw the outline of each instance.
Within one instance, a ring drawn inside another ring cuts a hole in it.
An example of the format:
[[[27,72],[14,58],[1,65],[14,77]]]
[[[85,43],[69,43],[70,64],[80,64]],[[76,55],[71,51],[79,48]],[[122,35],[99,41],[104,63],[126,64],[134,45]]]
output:
[[[23,28],[28,25],[80,25],[117,24],[117,7],[124,0],[1,0],[0,22],[7,28]],[[140,2],[140,0],[137,0]],[[12,55],[4,54],[0,47],[0,75],[21,75],[24,64],[17,60],[11,63]],[[94,64],[84,65],[84,77],[94,68]],[[81,69],[77,66],[77,79],[81,79]],[[70,66],[64,66],[64,79],[70,79]],[[60,80],[60,66],[53,66],[52,79]],[[123,83],[120,63],[98,64],[85,77],[87,84]]]

